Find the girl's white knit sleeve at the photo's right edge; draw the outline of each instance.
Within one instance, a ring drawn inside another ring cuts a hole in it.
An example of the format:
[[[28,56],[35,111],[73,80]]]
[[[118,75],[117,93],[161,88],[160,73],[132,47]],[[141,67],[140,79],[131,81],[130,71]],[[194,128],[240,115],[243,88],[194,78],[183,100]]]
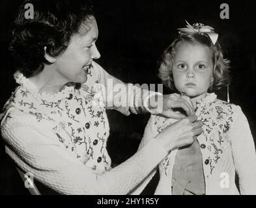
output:
[[[256,194],[256,153],[249,123],[240,109],[234,109],[231,148],[241,194]]]

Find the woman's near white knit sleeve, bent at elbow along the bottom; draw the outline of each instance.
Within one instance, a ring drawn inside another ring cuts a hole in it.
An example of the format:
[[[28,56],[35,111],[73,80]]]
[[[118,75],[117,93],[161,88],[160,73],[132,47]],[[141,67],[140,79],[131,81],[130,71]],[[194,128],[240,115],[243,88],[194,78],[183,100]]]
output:
[[[167,154],[154,138],[121,165],[102,175],[92,173],[74,155],[53,142],[36,128],[10,118],[2,126],[2,135],[10,148],[8,155],[25,172],[61,194],[128,194]]]

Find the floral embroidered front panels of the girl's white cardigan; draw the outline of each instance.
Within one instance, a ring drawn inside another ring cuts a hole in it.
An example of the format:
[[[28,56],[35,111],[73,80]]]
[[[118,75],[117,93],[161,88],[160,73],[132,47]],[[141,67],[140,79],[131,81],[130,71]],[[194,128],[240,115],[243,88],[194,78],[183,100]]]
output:
[[[212,174],[218,165],[223,149],[230,145],[227,134],[233,122],[233,109],[230,103],[216,99],[216,94],[212,93],[197,101],[195,115],[198,120],[203,122],[203,133],[197,136],[197,141],[203,156],[205,177],[209,177],[209,174]],[[176,121],[157,116],[154,125],[160,133],[165,127]],[[171,174],[168,170],[173,162],[171,153],[162,161],[165,176]]]

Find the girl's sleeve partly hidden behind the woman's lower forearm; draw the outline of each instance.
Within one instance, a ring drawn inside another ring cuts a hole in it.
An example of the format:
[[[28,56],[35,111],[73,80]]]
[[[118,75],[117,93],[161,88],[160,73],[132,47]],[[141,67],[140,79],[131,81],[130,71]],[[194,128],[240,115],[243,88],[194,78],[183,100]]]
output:
[[[154,125],[155,120],[156,120],[156,116],[151,115],[149,118],[149,122],[147,123],[147,126],[145,127],[144,135],[143,135],[143,138],[141,139],[141,143],[139,144],[138,151],[140,151],[141,149],[143,149],[143,147],[145,147],[147,145],[147,143],[150,141],[151,136],[158,135],[158,132],[156,131],[156,126]],[[134,190],[131,193],[132,195],[141,194],[141,192],[144,190],[144,188],[150,182],[152,177],[154,177],[154,175],[156,174],[157,168],[158,168],[158,166],[154,167],[154,169],[147,175],[147,177],[145,177],[145,179],[143,179],[143,181],[141,181],[141,183],[139,183],[139,185],[137,185],[137,187],[134,188]]]

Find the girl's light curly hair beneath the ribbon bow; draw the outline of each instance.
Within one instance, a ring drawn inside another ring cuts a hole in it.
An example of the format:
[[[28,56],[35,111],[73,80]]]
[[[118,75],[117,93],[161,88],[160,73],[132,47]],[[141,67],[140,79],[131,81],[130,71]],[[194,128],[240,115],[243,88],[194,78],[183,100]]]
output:
[[[165,86],[175,90],[172,73],[173,58],[175,57],[177,45],[181,43],[205,45],[212,51],[213,81],[208,90],[219,90],[221,87],[229,85],[229,60],[223,59],[223,53],[218,41],[214,45],[208,34],[182,33],[165,49],[162,58],[158,62],[158,77]]]

